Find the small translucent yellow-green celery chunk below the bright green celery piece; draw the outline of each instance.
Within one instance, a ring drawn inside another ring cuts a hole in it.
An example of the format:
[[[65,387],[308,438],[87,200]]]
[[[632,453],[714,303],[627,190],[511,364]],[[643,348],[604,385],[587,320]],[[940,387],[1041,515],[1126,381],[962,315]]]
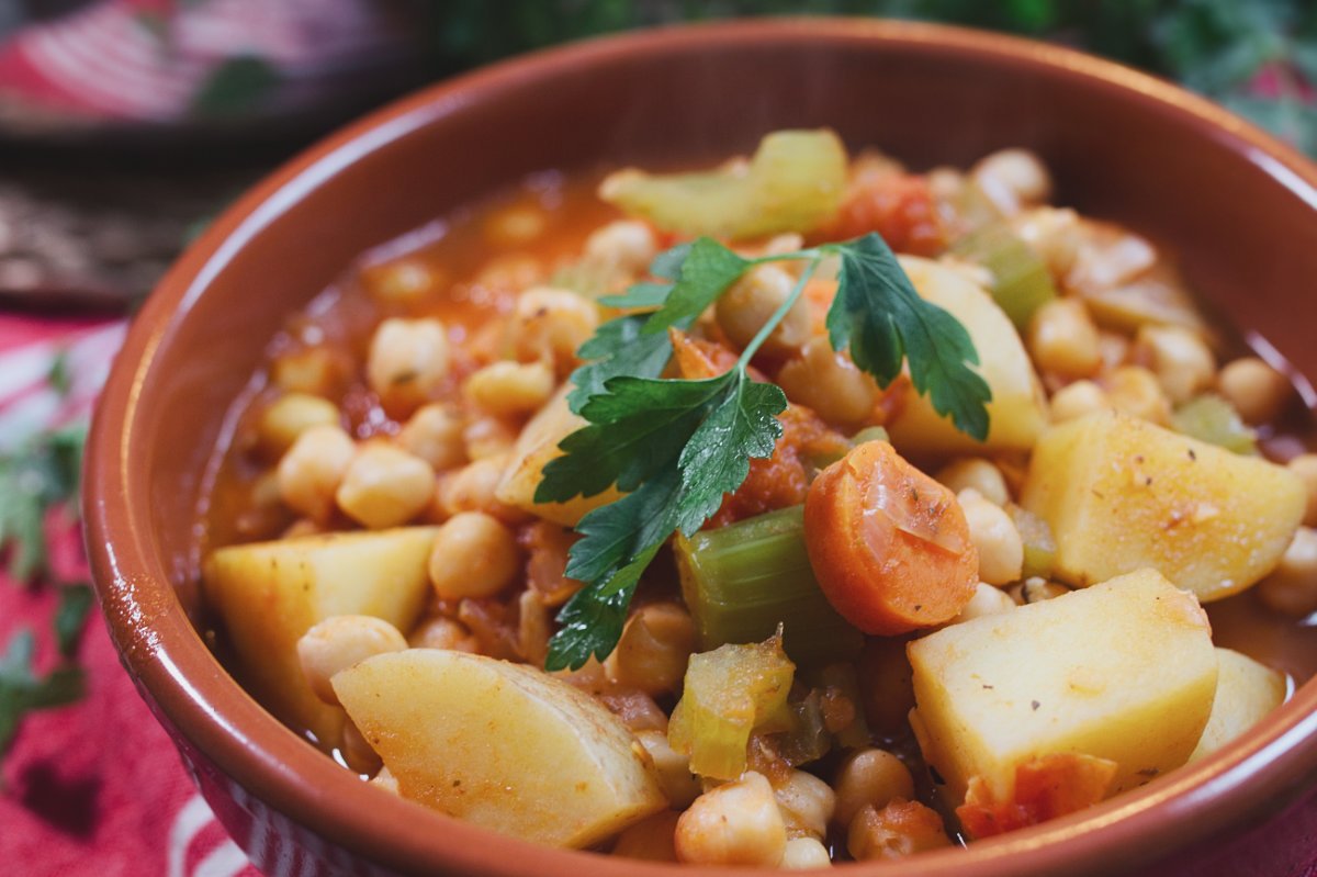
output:
[[[716,780],[739,777],[745,770],[751,732],[765,723],[790,720],[786,695],[794,676],[781,635],[693,654],[668,724],[668,743],[690,757],[693,773]]]

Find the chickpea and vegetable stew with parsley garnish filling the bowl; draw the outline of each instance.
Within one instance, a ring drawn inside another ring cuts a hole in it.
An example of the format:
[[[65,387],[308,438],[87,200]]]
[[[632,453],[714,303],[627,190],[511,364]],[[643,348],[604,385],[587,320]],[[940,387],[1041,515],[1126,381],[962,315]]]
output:
[[[1317,670],[1267,649],[1306,412],[1051,198],[778,132],[365,254],[219,452],[221,657],[371,785],[633,859],[902,857],[1210,755]]]

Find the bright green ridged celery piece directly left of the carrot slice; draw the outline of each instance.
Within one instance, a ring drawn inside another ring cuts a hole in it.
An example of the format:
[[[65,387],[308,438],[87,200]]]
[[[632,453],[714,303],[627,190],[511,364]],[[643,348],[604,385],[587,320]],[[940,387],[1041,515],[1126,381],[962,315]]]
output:
[[[778,624],[786,653],[801,664],[851,660],[864,648],[864,636],[836,614],[814,578],[802,506],[678,536],[676,548],[701,648],[757,643]]]

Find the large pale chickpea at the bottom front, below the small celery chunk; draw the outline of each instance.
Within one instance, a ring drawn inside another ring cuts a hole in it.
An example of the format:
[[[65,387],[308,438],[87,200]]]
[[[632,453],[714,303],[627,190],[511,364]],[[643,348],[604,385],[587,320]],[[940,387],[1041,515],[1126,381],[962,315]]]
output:
[[[677,860],[694,865],[773,868],[786,852],[786,826],[761,773],[695,798],[677,820]]]

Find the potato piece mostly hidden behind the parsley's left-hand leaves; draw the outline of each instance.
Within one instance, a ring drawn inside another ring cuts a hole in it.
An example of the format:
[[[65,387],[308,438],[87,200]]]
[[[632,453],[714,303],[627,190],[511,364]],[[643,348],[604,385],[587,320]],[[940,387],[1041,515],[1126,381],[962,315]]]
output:
[[[535,502],[535,489],[544,479],[545,464],[562,456],[558,442],[586,425],[585,419],[572,413],[568,407],[570,391],[572,385],[564,385],[525,424],[512,446],[512,458],[503,481],[494,491],[499,502],[564,527],[576,527],[587,511],[606,506],[622,495],[615,487],[608,487],[602,494],[576,496],[565,503]]]

